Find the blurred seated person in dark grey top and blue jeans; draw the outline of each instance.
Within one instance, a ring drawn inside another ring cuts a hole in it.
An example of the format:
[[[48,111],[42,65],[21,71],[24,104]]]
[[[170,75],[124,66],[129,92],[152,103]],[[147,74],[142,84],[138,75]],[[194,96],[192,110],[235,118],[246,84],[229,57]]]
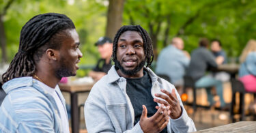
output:
[[[196,88],[205,88],[207,98],[210,105],[215,104],[212,98],[211,89],[216,87],[217,95],[220,97],[221,107],[225,106],[223,99],[223,85],[220,80],[216,80],[212,76],[205,75],[208,68],[217,68],[221,64],[214,55],[208,50],[209,42],[203,38],[199,41],[199,48],[193,50],[191,54],[190,64],[188,66],[187,75],[191,76],[195,81]]]

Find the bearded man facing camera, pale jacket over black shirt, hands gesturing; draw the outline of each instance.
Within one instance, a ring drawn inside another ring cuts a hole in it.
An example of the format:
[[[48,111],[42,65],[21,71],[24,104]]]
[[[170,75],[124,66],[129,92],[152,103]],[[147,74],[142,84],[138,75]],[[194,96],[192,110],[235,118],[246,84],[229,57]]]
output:
[[[113,42],[113,61],[85,102],[88,132],[196,131],[175,87],[147,68],[153,48],[145,29],[121,27]]]

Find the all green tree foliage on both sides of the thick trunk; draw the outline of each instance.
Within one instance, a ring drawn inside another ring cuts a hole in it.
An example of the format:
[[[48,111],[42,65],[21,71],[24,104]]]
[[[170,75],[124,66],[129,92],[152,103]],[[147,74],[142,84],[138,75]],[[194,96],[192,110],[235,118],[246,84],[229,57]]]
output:
[[[8,1],[0,0],[0,13]],[[155,55],[180,36],[188,51],[200,38],[217,38],[229,56],[238,57],[246,42],[256,38],[255,5],[256,0],[126,0],[123,24],[144,27],[154,41]],[[3,17],[8,61],[18,50],[21,27],[29,18],[59,12],[76,25],[84,55],[81,63],[96,63],[94,43],[105,33],[107,8],[108,0],[14,0]]]

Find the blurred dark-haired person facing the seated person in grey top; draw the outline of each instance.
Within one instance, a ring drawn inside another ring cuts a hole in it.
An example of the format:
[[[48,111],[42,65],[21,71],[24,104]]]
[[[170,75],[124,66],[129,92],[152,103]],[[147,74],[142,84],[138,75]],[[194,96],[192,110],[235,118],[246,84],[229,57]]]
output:
[[[216,63],[221,65],[227,63],[227,55],[222,48],[220,40],[212,40],[211,51],[216,59]],[[212,72],[211,74],[214,78],[222,82],[227,82],[230,79],[230,75],[227,72]]]

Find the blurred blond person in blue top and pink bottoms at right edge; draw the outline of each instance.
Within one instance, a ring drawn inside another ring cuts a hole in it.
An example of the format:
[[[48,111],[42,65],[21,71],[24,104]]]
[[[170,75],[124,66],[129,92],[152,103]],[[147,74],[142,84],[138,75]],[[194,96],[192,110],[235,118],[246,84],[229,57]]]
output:
[[[247,92],[256,93],[256,40],[249,40],[240,56],[239,79]],[[256,99],[249,106],[256,113]]]

